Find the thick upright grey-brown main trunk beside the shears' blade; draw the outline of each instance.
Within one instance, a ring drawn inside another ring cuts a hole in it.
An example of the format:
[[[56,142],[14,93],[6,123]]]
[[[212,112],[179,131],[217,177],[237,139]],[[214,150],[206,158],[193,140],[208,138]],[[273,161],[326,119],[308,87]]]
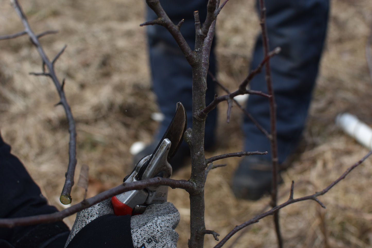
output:
[[[206,77],[209,67],[209,53],[213,36],[215,33],[214,11],[217,8],[218,0],[209,0],[207,5],[207,17],[199,28],[200,21],[198,13],[194,12],[195,27],[195,63],[190,63],[192,68],[192,147],[191,153],[191,175],[190,180],[196,183],[198,192],[190,194],[190,239],[189,247],[203,247],[204,235],[200,231],[205,229],[204,222],[204,184],[205,184],[205,163],[204,154],[204,132],[205,119],[199,118],[198,111],[205,108],[205,91],[207,89]]]

